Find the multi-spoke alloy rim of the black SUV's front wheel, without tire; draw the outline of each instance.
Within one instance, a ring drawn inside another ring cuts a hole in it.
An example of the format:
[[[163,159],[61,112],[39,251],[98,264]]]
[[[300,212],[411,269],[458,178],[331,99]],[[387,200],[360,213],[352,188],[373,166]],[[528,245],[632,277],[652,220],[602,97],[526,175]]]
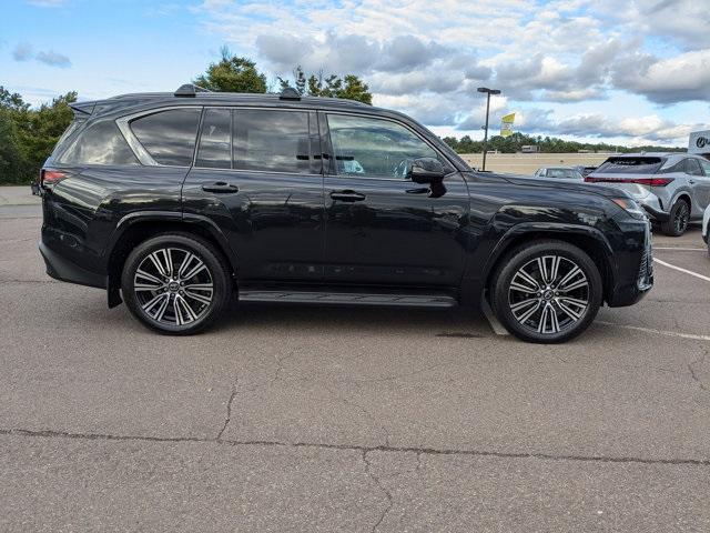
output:
[[[589,280],[582,269],[562,255],[542,255],[514,274],[508,305],[525,329],[557,334],[579,322],[589,309]]]

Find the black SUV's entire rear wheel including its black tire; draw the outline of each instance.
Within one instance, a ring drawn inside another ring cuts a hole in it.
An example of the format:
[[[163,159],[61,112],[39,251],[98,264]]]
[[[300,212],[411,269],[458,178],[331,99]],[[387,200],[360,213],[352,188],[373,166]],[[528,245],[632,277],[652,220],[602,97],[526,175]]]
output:
[[[169,276],[161,275],[151,254],[164,270],[166,264],[173,265]],[[187,278],[194,270],[197,273]],[[233,292],[230,269],[220,252],[197,235],[176,232],[155,235],[133,249],[123,265],[121,290],[133,316],[170,335],[190,335],[212,325],[229,306]]]

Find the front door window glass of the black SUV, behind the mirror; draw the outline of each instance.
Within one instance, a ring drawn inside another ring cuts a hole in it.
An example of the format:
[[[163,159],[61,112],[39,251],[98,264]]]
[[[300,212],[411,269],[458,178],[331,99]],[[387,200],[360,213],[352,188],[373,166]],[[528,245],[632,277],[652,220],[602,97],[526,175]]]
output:
[[[389,120],[328,114],[338,174],[405,178],[412,161],[438,159],[426,142]]]

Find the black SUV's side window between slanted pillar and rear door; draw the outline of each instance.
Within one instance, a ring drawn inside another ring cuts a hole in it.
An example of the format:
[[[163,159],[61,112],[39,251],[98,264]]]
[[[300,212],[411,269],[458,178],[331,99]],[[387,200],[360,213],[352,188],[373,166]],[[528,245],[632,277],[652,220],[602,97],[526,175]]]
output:
[[[197,108],[160,111],[132,121],[131,130],[156,163],[189,167],[200,114]]]

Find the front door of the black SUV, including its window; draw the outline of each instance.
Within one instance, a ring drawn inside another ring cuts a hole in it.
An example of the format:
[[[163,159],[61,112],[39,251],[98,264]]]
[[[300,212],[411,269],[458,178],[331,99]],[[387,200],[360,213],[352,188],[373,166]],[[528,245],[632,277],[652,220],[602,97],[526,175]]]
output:
[[[468,190],[458,172],[438,187],[412,182],[417,158],[444,158],[395,120],[320,117],[329,169],[325,279],[334,283],[457,286],[467,242]]]

